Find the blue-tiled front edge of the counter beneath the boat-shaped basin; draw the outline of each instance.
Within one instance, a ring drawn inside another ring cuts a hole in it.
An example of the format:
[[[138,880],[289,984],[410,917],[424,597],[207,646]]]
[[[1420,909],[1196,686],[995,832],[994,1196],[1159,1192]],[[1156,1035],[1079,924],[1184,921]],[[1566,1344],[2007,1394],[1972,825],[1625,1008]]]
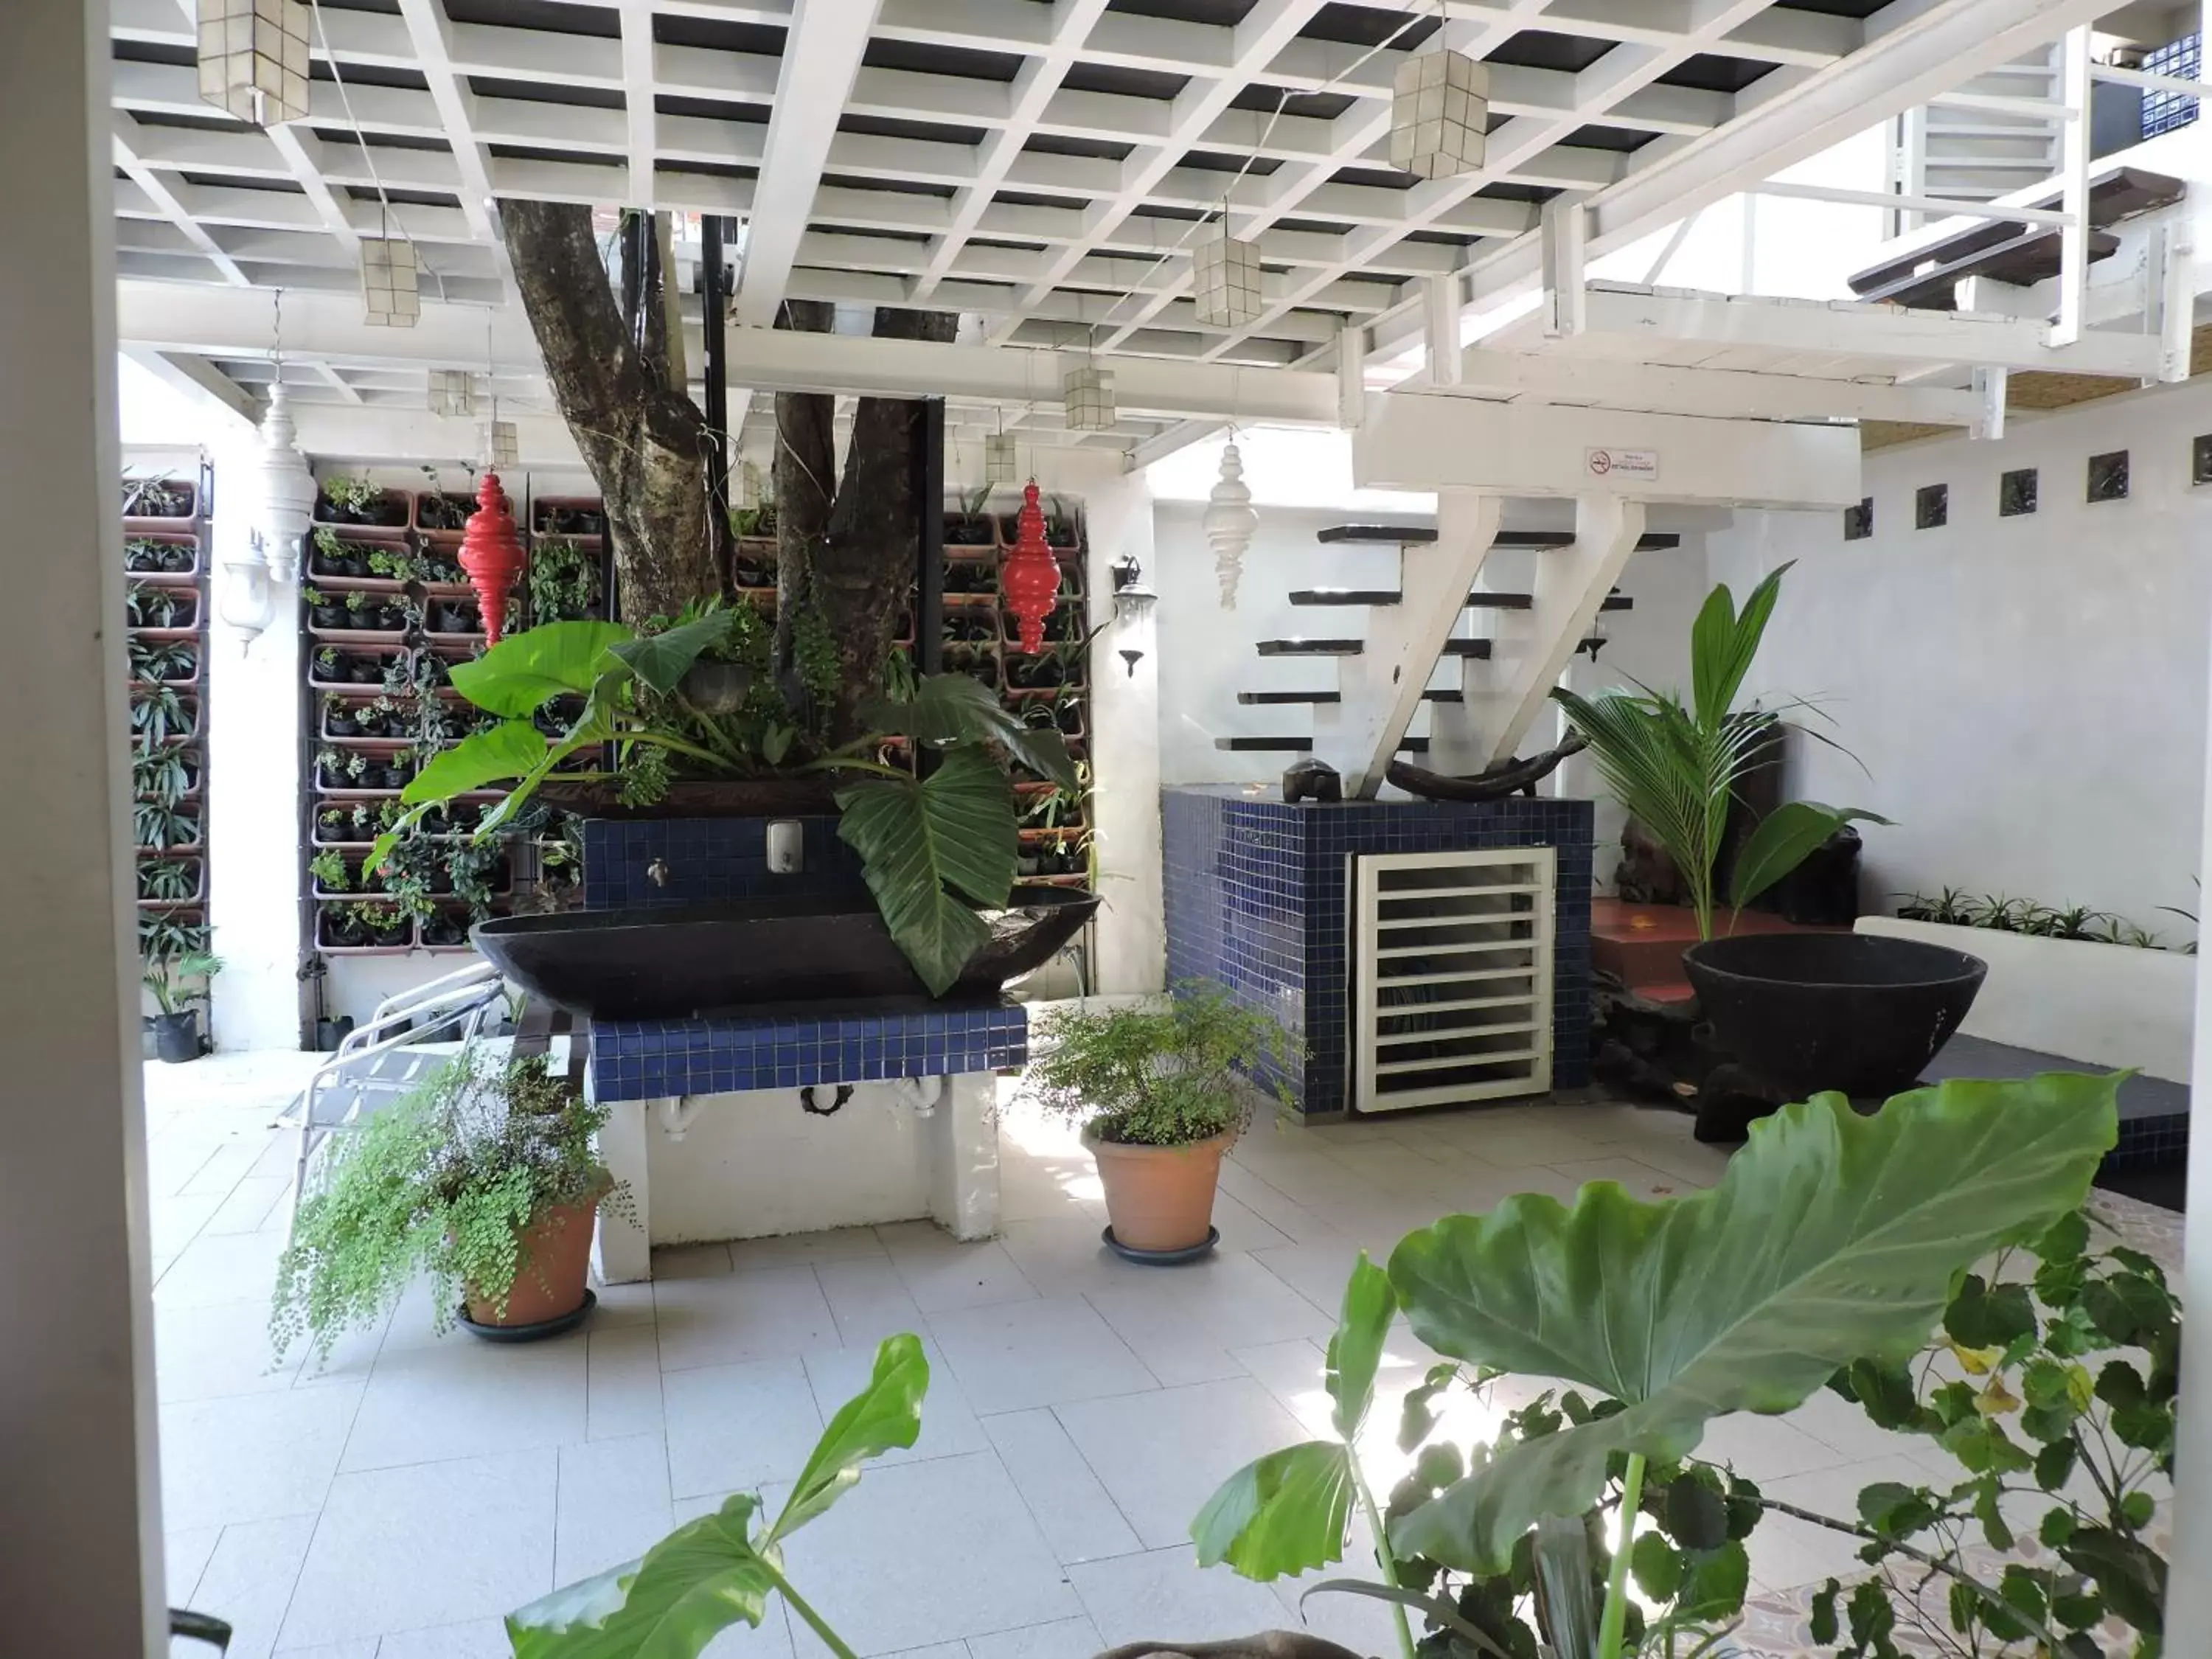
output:
[[[1020,1004],[825,1020],[595,1020],[593,1097],[659,1099],[998,1071],[1029,1060]]]

